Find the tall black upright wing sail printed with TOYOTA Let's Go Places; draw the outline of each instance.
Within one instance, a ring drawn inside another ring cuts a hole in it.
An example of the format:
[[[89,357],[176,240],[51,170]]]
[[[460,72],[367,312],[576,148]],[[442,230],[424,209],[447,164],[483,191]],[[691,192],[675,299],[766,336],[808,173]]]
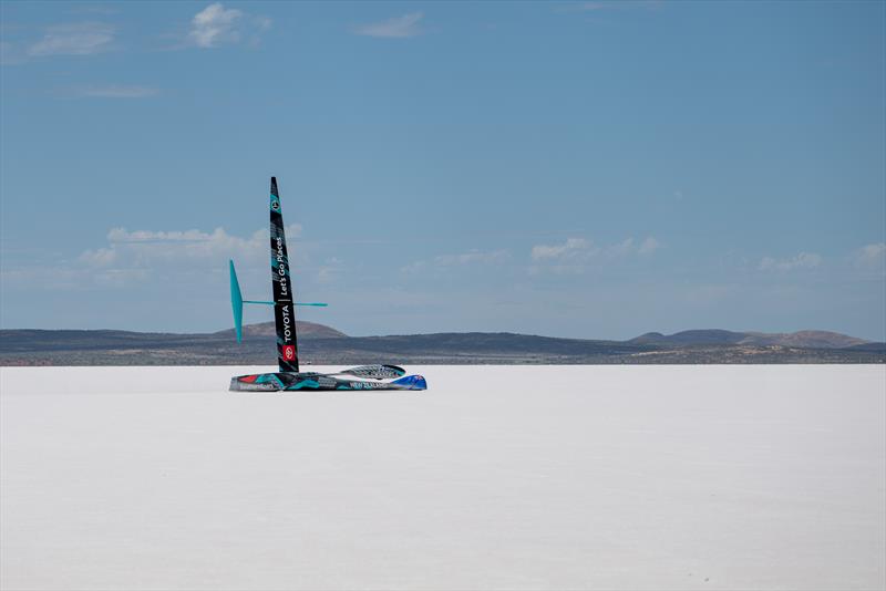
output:
[[[298,372],[296,307],[286,253],[282,208],[277,177],[270,177],[270,274],[274,289],[274,321],[277,326],[277,363],[281,372]]]

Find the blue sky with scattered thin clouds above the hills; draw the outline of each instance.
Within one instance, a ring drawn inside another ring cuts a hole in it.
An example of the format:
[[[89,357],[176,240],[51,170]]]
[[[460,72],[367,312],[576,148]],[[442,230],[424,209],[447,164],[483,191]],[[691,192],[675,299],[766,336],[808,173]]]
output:
[[[886,340],[883,2],[3,2],[0,324]],[[247,311],[247,321],[270,319]]]

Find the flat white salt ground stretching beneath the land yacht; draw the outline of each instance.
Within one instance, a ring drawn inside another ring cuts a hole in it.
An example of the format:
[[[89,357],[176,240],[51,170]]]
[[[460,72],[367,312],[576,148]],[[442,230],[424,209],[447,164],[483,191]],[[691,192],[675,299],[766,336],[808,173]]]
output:
[[[1,369],[2,589],[886,587],[886,366],[413,370]]]

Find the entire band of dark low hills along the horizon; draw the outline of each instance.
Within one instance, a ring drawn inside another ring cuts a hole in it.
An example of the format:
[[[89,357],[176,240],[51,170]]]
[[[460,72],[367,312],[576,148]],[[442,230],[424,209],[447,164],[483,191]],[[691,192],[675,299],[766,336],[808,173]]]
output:
[[[628,341],[508,332],[348,336],[298,322],[303,363],[886,363],[886,345],[845,334],[691,330]],[[114,330],[0,330],[0,365],[224,365],[276,363],[274,323],[208,334]]]

